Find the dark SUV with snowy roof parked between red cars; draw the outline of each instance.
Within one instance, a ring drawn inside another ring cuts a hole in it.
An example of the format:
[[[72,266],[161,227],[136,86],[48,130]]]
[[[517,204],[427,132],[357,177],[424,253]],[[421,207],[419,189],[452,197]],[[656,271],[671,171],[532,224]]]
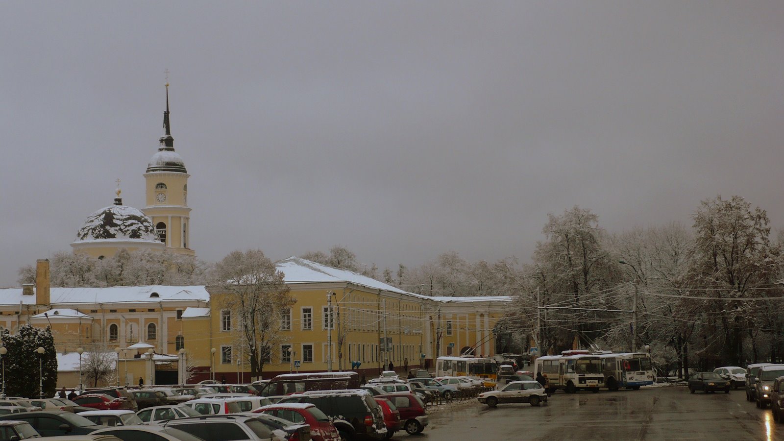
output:
[[[315,404],[328,417],[336,418],[333,424],[340,439],[382,439],[387,435],[383,411],[365,390],[304,392],[289,395],[278,403]]]

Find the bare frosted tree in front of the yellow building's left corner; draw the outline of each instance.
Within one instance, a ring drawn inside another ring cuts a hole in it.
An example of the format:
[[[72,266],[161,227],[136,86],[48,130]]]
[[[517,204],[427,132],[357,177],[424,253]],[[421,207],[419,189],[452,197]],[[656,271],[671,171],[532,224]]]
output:
[[[238,319],[241,344],[251,376],[261,376],[264,363],[271,359],[284,337],[280,329],[281,312],[294,304],[284,274],[261,250],[233,251],[216,265],[217,290],[227,295],[223,307]]]

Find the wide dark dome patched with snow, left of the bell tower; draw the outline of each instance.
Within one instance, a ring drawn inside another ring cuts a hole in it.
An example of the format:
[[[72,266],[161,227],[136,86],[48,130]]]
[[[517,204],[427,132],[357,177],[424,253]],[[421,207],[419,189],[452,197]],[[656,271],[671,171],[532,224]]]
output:
[[[152,220],[131,206],[107,206],[90,214],[76,233],[78,242],[131,241],[157,242],[158,233]]]

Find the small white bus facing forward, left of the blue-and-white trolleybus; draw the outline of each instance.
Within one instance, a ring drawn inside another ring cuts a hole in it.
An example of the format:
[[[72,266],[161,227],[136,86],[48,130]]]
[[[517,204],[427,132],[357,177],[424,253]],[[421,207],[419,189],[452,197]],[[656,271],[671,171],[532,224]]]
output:
[[[587,351],[564,351],[561,355],[544,355],[534,363],[534,375],[547,374],[550,390],[564,389],[567,393],[578,390],[599,392],[604,387],[601,358]]]

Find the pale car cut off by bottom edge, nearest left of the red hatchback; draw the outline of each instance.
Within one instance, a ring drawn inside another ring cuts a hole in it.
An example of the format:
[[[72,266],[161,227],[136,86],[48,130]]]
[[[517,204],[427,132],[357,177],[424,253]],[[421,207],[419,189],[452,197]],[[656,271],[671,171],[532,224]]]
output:
[[[201,417],[183,418],[164,423],[162,427],[178,428],[183,432],[203,439],[273,439],[273,433],[267,425],[256,419],[256,415],[202,415]]]

